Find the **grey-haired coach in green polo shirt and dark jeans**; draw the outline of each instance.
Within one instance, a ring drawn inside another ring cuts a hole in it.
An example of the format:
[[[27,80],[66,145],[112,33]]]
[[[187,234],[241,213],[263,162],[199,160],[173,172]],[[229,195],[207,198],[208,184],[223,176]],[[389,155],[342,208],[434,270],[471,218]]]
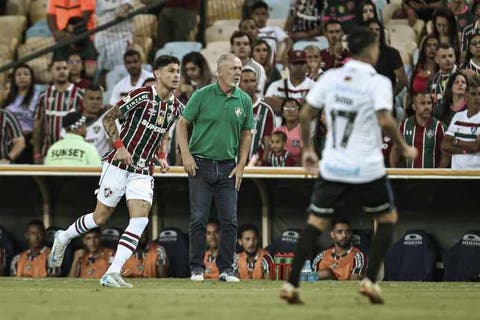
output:
[[[214,199],[222,226],[216,259],[219,280],[238,282],[232,270],[237,194],[252,140],[252,100],[237,87],[242,71],[239,58],[222,55],[217,71],[218,81],[196,91],[188,100],[177,124],[177,141],[189,175],[191,279],[203,281],[205,228]],[[189,126],[193,127],[190,144]]]

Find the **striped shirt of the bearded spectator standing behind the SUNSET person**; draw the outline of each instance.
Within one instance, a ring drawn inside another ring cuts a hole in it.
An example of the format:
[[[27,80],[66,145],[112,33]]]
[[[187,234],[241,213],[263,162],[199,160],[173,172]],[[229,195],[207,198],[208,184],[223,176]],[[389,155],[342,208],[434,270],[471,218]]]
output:
[[[70,84],[67,90],[60,92],[52,85],[40,94],[35,120],[42,121],[44,132],[42,155],[46,156],[48,148],[60,140],[63,117],[72,111],[82,112],[83,90]]]

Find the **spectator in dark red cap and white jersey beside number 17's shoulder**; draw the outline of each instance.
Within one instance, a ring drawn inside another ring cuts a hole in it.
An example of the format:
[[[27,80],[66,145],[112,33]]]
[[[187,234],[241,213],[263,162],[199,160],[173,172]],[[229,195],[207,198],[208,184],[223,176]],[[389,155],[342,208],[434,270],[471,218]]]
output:
[[[297,99],[301,102],[315,84],[310,78],[307,78],[308,65],[307,55],[303,50],[290,51],[288,54],[287,79],[281,79],[273,82],[265,94],[265,102],[273,108],[276,115],[282,112],[282,103],[285,98]],[[276,123],[277,126],[279,123]]]

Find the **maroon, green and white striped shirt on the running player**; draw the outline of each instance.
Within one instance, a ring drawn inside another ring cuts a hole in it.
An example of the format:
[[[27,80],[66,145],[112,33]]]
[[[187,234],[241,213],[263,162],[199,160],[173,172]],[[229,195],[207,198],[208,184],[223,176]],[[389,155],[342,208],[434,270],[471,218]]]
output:
[[[104,160],[129,172],[152,175],[154,156],[163,135],[168,134],[180,117],[184,105],[173,93],[162,101],[153,86],[130,91],[116,105],[123,114],[120,139],[132,155],[133,164],[124,165],[116,160],[115,149],[111,149]]]

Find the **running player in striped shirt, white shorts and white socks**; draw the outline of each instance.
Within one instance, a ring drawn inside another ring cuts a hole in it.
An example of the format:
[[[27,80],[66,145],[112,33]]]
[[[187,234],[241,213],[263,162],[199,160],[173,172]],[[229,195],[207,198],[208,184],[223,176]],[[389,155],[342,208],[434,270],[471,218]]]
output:
[[[100,284],[107,287],[132,287],[123,280],[120,272],[135,252],[148,224],[153,198],[154,157],[160,148],[160,167],[166,172],[168,130],[184,109],[172,92],[180,80],[180,61],[163,55],[155,60],[153,70],[157,80],[155,86],[131,91],[105,114],[103,125],[113,141],[113,148],[104,157],[97,206],[93,213],[81,216],[67,230],[55,234],[49,256],[50,265],[60,266],[69,242],[105,224],[125,194],[130,221],[120,237],[112,264],[100,279]],[[120,118],[124,121],[119,133],[115,120]]]

